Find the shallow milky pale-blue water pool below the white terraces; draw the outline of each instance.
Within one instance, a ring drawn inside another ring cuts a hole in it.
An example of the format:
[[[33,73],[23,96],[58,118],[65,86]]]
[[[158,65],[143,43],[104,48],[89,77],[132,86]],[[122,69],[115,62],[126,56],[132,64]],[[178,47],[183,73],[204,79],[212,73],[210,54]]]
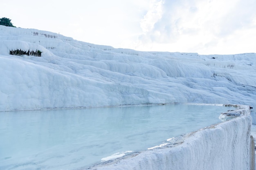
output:
[[[0,112],[0,169],[87,168],[217,124],[227,110],[169,104]]]

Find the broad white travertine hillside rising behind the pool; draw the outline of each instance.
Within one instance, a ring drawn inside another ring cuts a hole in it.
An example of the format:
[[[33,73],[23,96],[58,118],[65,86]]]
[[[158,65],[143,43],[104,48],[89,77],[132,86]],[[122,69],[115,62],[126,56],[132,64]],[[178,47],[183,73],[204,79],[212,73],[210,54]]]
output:
[[[9,55],[15,49],[43,53]],[[255,108],[255,71],[254,53],[141,52],[0,26],[0,111],[173,102]]]

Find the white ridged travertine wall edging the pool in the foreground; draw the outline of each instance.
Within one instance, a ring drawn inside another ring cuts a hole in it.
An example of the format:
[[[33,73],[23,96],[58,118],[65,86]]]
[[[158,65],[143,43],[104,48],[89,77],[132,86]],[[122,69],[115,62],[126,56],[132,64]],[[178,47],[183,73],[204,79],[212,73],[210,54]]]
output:
[[[251,126],[252,117],[247,112],[240,117],[193,132],[175,147],[148,150],[91,169],[249,170]]]

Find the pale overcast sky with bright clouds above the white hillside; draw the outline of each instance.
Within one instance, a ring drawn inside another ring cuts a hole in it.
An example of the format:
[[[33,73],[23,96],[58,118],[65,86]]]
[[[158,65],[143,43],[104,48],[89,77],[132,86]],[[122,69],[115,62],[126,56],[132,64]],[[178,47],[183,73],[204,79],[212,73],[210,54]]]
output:
[[[256,53],[256,0],[4,0],[0,15],[115,48]]]

